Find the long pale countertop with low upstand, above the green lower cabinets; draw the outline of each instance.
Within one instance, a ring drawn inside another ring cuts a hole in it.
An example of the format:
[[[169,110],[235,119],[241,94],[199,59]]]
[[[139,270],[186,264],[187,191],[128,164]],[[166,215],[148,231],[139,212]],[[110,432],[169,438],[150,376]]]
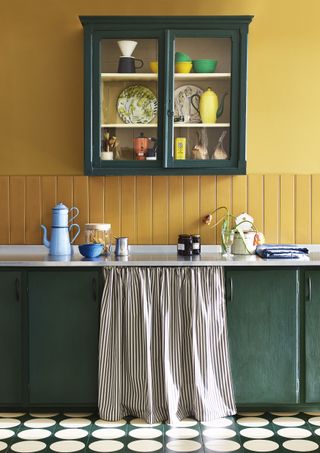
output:
[[[0,245],[0,267],[103,267],[103,266],[320,266],[320,245],[303,245],[310,251],[303,259],[262,259],[256,255],[222,257],[220,246],[202,246],[200,256],[178,256],[174,245],[136,245],[127,257],[83,258],[78,247],[70,256],[50,256],[42,245]]]

